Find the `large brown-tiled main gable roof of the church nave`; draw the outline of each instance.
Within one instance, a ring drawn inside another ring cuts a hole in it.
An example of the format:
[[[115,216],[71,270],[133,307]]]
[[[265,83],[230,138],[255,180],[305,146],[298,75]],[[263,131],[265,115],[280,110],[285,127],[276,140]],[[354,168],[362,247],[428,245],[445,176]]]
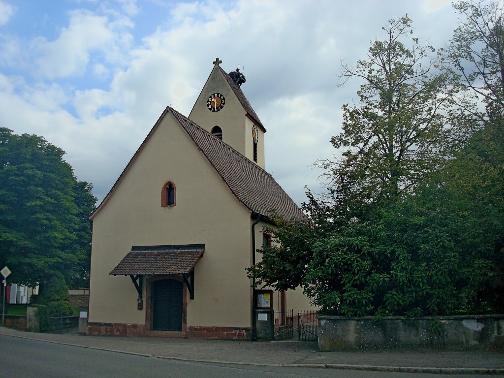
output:
[[[137,159],[161,120],[170,113],[185,133],[196,144],[208,162],[214,167],[236,199],[249,211],[271,218],[273,211],[283,218],[304,219],[304,213],[285,193],[273,176],[254,162],[234,150],[220,139],[199,127],[171,107],[167,107],[149,132],[143,143],[124,168],[100,205],[89,217],[93,219],[112,196],[115,188]]]

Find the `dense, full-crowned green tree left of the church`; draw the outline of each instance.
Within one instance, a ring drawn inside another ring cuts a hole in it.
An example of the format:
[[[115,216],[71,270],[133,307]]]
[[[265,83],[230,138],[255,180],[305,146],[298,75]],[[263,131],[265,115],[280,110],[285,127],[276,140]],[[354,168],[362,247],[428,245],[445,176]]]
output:
[[[0,265],[13,272],[10,282],[43,288],[61,272],[82,286],[89,276],[87,217],[96,199],[64,154],[41,137],[0,128]]]

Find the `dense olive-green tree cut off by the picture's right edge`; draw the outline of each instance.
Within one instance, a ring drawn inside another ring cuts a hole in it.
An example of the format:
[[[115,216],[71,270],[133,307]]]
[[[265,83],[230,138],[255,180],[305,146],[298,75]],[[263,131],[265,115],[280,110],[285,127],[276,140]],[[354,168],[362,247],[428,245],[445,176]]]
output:
[[[473,312],[504,311],[504,127],[490,113],[440,172],[451,194],[451,207],[465,227],[460,251],[468,260],[465,307]]]

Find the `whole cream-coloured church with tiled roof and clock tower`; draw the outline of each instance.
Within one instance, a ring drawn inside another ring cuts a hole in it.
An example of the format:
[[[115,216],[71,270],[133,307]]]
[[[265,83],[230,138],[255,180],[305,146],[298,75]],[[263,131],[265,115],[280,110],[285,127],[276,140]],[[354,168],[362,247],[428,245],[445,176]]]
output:
[[[259,309],[308,309],[254,290],[246,268],[273,212],[304,214],[265,171],[266,129],[219,58],[188,117],[167,107],[90,216],[89,335],[250,338]]]

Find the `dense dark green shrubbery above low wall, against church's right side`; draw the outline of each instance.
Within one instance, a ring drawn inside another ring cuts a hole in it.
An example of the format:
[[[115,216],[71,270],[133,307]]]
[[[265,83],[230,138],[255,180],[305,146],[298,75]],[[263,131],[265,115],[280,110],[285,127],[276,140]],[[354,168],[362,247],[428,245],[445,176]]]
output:
[[[311,209],[326,217],[305,224],[279,221],[275,236],[281,245],[265,248],[249,274],[258,285],[281,290],[301,285],[329,314],[453,314],[467,303],[470,293],[462,288],[482,266],[461,251],[470,242],[488,243],[483,234],[474,238],[479,229],[468,232],[471,219],[452,209],[450,196],[429,182],[380,208],[360,204],[359,211],[369,209],[365,219],[314,200]]]

